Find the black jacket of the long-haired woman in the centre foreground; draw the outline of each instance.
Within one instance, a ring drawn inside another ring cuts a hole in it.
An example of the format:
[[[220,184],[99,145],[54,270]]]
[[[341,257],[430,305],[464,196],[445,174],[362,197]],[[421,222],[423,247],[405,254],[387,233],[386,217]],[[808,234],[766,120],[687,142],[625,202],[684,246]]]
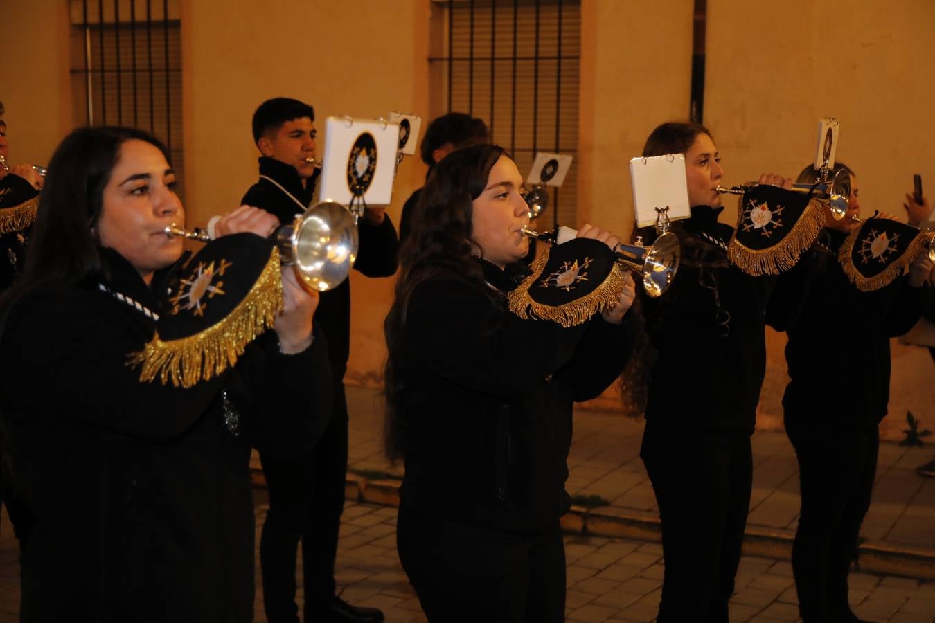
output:
[[[510,279],[485,263],[488,282]],[[441,518],[539,531],[568,510],[571,407],[610,386],[639,330],[599,317],[522,320],[454,273],[412,292],[396,357],[401,503]]]

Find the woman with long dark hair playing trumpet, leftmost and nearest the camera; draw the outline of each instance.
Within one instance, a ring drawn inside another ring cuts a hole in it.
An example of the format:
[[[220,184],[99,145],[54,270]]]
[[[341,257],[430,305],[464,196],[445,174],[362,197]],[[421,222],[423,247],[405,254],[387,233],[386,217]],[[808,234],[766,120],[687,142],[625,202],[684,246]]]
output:
[[[66,136],[0,301],[5,453],[35,514],[22,621],[252,620],[251,445],[301,450],[289,439],[315,423],[290,414],[330,396],[309,383],[328,372],[317,297],[286,271],[275,330],[235,368],[190,389],[141,383],[127,355],[151,339],[182,255],[165,234],[184,222],[175,185],[151,135]],[[218,231],[275,224],[245,207]]]

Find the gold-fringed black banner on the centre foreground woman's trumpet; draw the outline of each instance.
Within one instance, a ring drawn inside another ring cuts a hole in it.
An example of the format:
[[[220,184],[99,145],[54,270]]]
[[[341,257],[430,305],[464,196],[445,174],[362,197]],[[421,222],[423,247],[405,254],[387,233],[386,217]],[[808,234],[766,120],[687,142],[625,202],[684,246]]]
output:
[[[548,248],[530,266],[532,275],[512,290],[510,310],[522,319],[574,327],[617,303],[624,287],[613,251],[591,238]]]

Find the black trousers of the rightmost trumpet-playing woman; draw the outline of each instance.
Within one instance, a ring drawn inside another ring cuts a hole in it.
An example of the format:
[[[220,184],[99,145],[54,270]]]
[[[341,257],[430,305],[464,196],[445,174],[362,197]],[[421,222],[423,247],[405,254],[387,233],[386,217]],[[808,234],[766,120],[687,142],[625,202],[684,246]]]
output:
[[[802,499],[792,571],[809,623],[850,612],[847,574],[870,508],[880,433],[791,431],[789,439]]]

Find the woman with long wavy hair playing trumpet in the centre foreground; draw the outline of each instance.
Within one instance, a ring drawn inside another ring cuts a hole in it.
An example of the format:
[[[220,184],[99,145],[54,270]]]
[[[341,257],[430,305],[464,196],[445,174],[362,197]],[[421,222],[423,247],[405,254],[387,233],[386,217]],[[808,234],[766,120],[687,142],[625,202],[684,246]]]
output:
[[[406,468],[399,559],[432,622],[564,620],[572,402],[611,384],[638,328],[629,276],[578,327],[508,311],[504,268],[528,248],[522,185],[493,145],[435,165],[384,325],[387,452]]]

